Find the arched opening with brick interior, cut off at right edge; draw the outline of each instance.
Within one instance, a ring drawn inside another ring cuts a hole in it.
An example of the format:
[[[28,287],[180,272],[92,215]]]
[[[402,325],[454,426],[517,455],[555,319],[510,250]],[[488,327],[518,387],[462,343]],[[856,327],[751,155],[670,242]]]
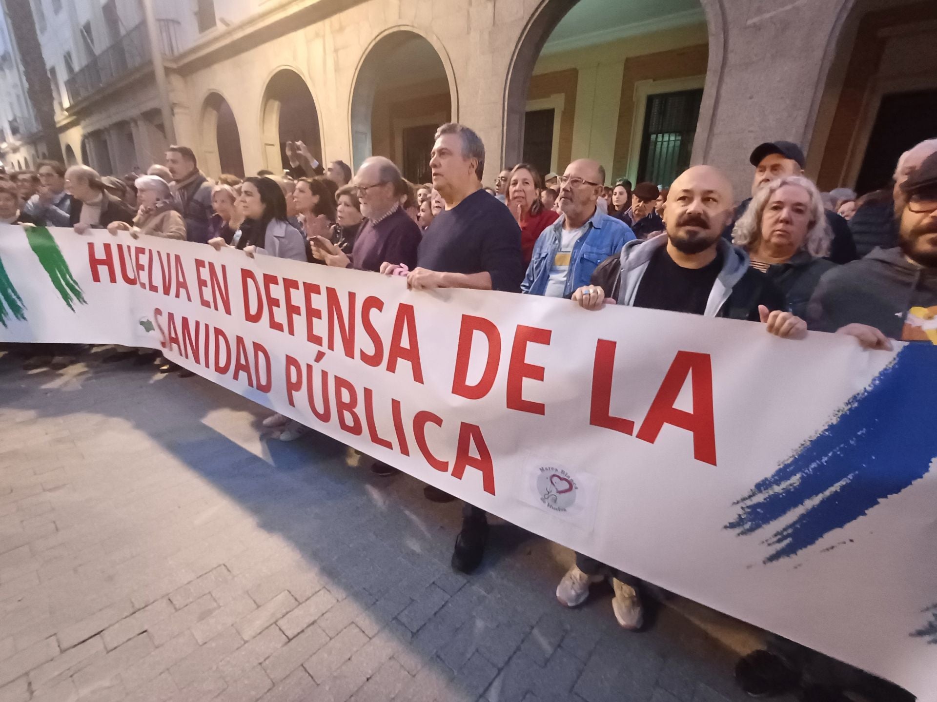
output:
[[[937,138],[937,5],[858,0],[824,87],[808,166],[822,190],[890,188],[900,154]]]

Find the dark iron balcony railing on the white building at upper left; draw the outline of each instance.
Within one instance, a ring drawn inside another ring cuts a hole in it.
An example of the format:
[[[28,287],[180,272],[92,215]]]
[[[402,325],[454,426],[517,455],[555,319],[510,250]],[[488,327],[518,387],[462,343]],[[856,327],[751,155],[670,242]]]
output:
[[[179,22],[156,20],[156,24],[163,55],[173,56],[178,53]],[[146,32],[146,23],[140,22],[65,81],[68,101],[76,103],[149,61],[150,37]]]

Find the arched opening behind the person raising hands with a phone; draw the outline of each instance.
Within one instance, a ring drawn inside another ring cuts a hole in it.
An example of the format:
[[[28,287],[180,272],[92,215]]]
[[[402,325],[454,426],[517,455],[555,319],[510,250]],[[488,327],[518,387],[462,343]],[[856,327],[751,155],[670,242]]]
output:
[[[303,141],[317,161],[322,160],[319,111],[309,86],[289,68],[277,71],[263,92],[260,116],[266,168],[289,168],[287,141]]]

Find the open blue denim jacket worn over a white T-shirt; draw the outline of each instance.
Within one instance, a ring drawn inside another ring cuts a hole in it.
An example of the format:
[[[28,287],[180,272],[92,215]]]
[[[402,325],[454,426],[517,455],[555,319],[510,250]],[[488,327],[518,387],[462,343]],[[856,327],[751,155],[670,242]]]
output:
[[[553,269],[553,260],[559,251],[560,234],[563,229],[565,214],[549,227],[543,229],[543,234],[537,239],[533,247],[533,256],[530,258],[527,275],[521,284],[521,292],[528,295],[543,295],[546,284]],[[634,233],[628,225],[621,220],[602,214],[598,208],[588,220],[586,232],[573,244],[573,254],[570,256],[570,270],[566,276],[566,287],[563,288],[563,297],[569,298],[573,292],[588,285],[592,271],[609,256],[621,253],[622,246],[634,239]]]

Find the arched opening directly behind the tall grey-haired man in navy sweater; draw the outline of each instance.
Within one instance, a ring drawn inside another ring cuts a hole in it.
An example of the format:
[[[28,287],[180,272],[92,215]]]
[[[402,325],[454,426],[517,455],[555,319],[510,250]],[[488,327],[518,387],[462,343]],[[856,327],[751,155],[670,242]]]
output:
[[[427,38],[409,30],[380,37],[358,67],[351,94],[354,167],[368,156],[387,156],[412,183],[427,182],[436,129],[458,112],[452,85]]]

